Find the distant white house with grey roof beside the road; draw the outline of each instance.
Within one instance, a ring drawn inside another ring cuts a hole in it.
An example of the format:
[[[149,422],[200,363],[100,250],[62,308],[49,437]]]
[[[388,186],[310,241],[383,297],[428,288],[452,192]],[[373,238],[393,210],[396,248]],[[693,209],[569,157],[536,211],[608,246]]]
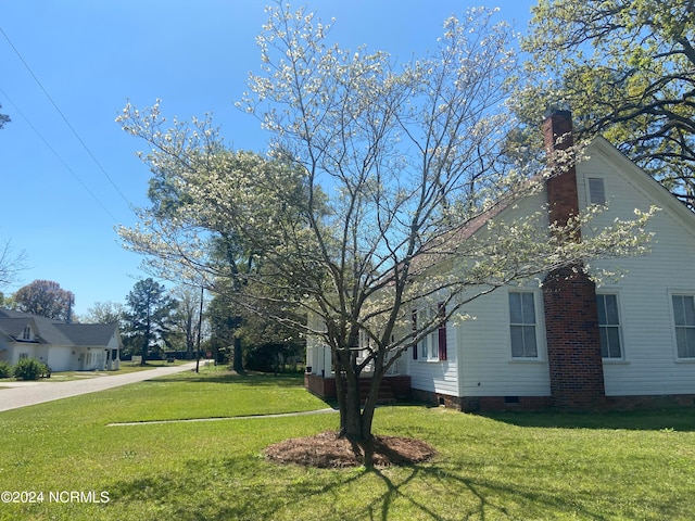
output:
[[[36,358],[52,371],[118,369],[121,333],[115,323],[65,323],[0,309],[0,360]]]

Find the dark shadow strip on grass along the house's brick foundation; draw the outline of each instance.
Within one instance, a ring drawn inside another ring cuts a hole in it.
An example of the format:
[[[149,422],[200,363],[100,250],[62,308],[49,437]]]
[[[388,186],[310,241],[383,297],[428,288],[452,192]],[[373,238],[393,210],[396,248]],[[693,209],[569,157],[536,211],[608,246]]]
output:
[[[695,408],[672,407],[631,411],[560,412],[508,411],[478,416],[517,427],[557,429],[608,429],[630,431],[695,431]]]

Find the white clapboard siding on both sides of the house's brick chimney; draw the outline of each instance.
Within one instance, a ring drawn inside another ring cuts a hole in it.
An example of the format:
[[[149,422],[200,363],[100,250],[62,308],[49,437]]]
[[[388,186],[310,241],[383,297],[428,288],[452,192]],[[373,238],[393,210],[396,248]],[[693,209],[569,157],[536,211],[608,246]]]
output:
[[[627,160],[621,161],[614,149],[605,151],[592,145],[587,154],[589,158],[577,167],[580,208],[587,205],[587,179],[591,177],[604,179],[609,205],[609,209],[596,218],[595,226],[608,226],[616,217],[634,218],[635,207],[646,212],[655,199],[670,198],[667,193],[655,196],[653,192],[662,189],[649,186],[650,179],[644,182],[644,173]],[[539,194],[519,202],[504,213],[504,218],[515,219],[538,211],[544,196]],[[674,217],[669,208],[665,208],[655,215],[647,230],[655,233],[648,255],[597,260],[590,266],[590,269],[617,267],[624,274],[617,281],[605,281],[597,288],[598,293],[618,295],[621,315],[623,358],[603,361],[604,392],[611,398],[608,406],[633,405],[634,399],[617,399],[631,396],[674,396],[677,402],[692,403],[690,396],[695,393],[695,360],[677,357],[671,309],[671,292],[695,294],[695,264],[692,262],[695,219],[687,214],[683,218]],[[542,317],[544,307],[538,281],[529,282],[523,290],[536,294],[536,312]],[[552,393],[545,325],[538,325],[539,358],[514,359],[510,355],[508,291],[496,290],[463,309],[472,318],[450,328],[456,329],[455,360],[450,347],[448,361],[410,361],[413,387],[420,392],[416,395],[428,396],[428,401],[440,395],[456,396],[453,402],[450,398],[440,398],[440,402],[447,405],[451,402],[464,410],[533,408],[548,403],[546,398]],[[450,346],[454,345],[451,338],[448,342]],[[458,374],[453,373],[455,368],[458,368]],[[504,397],[517,396],[520,405],[509,407],[510,404],[504,403]]]

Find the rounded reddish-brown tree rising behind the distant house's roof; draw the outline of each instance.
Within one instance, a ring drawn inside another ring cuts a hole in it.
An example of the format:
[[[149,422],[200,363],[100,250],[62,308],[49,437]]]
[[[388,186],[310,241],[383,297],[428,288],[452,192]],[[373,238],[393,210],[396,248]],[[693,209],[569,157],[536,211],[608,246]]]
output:
[[[70,321],[75,295],[52,280],[35,280],[14,293],[14,302],[20,312]]]

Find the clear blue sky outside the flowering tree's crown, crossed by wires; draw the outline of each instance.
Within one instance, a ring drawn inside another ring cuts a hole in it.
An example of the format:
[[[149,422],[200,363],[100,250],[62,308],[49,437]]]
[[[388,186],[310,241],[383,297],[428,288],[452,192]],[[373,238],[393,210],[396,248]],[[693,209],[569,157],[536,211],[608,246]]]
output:
[[[404,59],[434,47],[442,22],[480,2],[309,0],[336,17],[344,48],[367,45]],[[530,0],[482,2],[526,31]],[[114,226],[147,205],[144,143],[115,117],[127,100],[163,100],[167,116],[213,113],[228,144],[264,151],[267,136],[233,101],[260,63],[255,36],[266,21],[251,0],[30,0],[0,7],[0,243],[25,251],[28,269],[5,294],[36,279],[94,302],[124,303],[141,257],[123,250]],[[58,110],[56,110],[58,106]],[[59,112],[60,110],[60,112]],[[62,114],[62,115],[61,115]],[[37,134],[38,132],[38,134]]]

